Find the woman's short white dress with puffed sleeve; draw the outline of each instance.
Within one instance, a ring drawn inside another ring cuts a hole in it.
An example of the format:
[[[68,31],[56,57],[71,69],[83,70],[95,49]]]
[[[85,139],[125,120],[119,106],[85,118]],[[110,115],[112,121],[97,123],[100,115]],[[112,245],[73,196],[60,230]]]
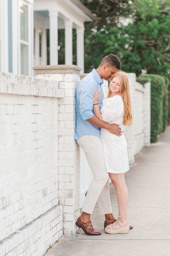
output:
[[[123,130],[124,103],[122,97],[115,95],[108,98],[101,108],[102,119],[109,124],[119,124]],[[129,170],[127,142],[124,134],[117,136],[101,128],[101,138],[105,156],[106,170],[120,174]]]

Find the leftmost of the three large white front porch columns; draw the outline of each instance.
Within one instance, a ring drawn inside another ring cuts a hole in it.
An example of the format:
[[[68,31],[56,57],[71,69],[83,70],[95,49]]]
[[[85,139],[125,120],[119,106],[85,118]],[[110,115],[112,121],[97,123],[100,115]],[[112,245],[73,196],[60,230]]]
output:
[[[49,11],[50,17],[50,65],[58,65],[58,12]]]

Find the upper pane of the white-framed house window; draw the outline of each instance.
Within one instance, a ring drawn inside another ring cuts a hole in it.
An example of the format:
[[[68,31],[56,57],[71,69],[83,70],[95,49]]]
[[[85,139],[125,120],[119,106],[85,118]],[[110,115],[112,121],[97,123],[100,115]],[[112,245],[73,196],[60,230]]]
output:
[[[20,38],[28,42],[28,6],[20,1]]]

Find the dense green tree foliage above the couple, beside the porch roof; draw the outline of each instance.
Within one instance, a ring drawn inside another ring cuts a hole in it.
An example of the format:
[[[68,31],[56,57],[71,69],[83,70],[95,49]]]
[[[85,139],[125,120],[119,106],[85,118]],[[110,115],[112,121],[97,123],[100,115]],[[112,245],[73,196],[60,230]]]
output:
[[[85,72],[116,54],[122,69],[168,76],[170,0],[81,0],[99,21],[85,24]]]

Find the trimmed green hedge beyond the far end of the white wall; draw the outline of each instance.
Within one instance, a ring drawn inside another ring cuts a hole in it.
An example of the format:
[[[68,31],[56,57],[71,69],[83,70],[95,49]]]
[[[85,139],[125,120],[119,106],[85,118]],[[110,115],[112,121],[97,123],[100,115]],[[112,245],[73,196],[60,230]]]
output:
[[[151,107],[151,125],[150,142],[154,143],[158,135],[164,131],[167,125],[167,90],[164,77],[158,75],[145,74],[140,76],[137,81],[150,80],[150,107]],[[141,82],[142,83],[142,82]],[[166,100],[165,100],[166,99]],[[165,103],[164,103],[165,100]],[[166,111],[165,111],[166,109]],[[164,119],[166,121],[164,121]]]

